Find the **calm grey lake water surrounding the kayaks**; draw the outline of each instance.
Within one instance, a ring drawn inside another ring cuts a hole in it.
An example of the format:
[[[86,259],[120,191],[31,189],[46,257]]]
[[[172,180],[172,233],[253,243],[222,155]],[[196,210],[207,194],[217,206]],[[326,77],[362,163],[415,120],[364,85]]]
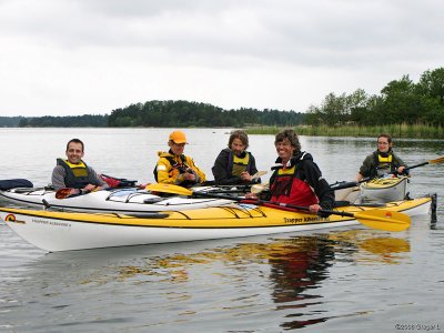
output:
[[[0,129],[0,179],[50,182],[65,143],[97,171],[152,182],[169,129]],[[185,153],[212,179],[228,129],[186,129]],[[250,135],[260,170],[273,135]],[[301,138],[330,183],[350,181],[375,138]],[[398,140],[410,164],[444,141]],[[0,222],[0,332],[402,332],[444,330],[443,164],[412,170],[411,196],[437,193],[437,223],[401,233],[332,230],[46,253]],[[264,178],[268,180],[270,173]]]

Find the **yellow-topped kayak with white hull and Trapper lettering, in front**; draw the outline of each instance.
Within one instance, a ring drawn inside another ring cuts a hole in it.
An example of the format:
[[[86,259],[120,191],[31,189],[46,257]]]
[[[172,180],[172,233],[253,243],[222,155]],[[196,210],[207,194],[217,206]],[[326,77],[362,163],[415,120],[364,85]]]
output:
[[[384,210],[408,215],[427,213],[431,198],[401,201]],[[346,206],[363,212],[369,206]],[[190,211],[121,214],[67,213],[0,208],[0,218],[29,243],[49,252],[154,243],[244,238],[359,225],[354,218],[321,218],[253,204],[231,204]]]

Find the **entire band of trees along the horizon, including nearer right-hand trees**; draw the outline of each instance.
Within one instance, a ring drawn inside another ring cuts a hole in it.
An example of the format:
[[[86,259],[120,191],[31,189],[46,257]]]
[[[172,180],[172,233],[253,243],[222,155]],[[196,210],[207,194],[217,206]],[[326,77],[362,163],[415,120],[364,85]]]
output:
[[[0,127],[296,127],[346,128],[393,124],[444,127],[444,68],[425,71],[417,83],[408,75],[389,82],[380,95],[357,89],[351,94],[331,92],[321,105],[305,113],[241,108],[224,110],[189,101],[148,101],[110,115],[0,117]],[[427,130],[427,132],[430,132]]]

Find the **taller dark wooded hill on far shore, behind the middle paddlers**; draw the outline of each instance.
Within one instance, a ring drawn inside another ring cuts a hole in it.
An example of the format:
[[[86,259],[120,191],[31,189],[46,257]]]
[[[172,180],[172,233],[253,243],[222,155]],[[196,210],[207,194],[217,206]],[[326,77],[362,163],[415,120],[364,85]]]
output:
[[[188,101],[149,101],[111,112],[109,127],[294,127],[304,122],[303,113],[279,110],[221,108]]]

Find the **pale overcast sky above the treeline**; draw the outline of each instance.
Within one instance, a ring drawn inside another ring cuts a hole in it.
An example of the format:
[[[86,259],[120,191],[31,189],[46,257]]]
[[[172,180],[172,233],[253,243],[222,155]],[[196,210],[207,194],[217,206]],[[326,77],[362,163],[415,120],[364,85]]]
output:
[[[0,0],[0,115],[304,112],[444,65],[442,0]]]

